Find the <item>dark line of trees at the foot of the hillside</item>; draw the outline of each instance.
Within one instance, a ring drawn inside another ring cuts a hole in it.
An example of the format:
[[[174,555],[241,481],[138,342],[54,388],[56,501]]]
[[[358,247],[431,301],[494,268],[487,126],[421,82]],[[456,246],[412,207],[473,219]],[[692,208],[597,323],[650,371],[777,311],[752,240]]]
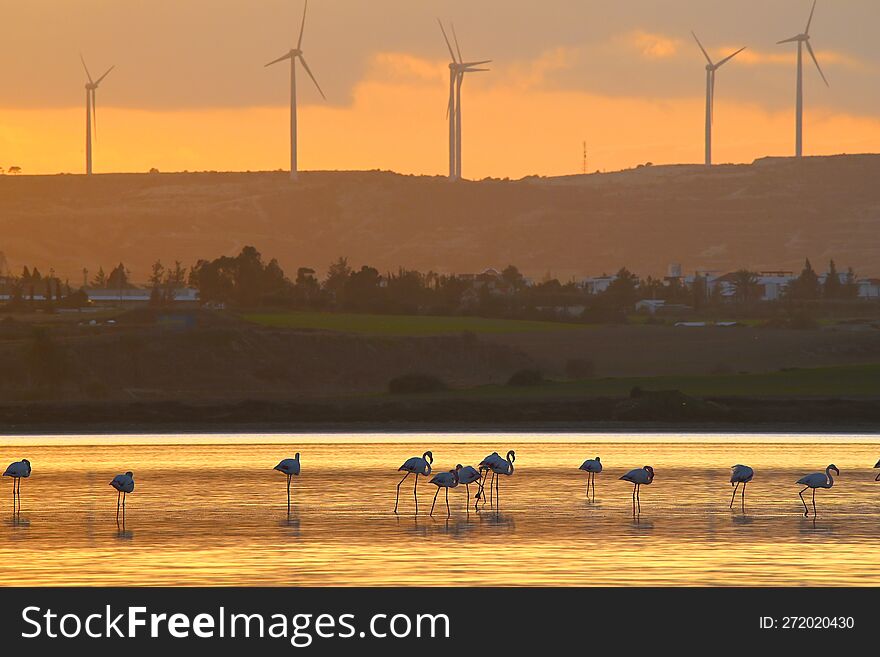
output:
[[[539,282],[528,281],[515,265],[497,275],[456,275],[427,273],[398,268],[381,273],[375,267],[354,267],[348,258],[332,262],[319,278],[310,267],[300,267],[291,278],[274,258],[266,261],[253,246],[236,256],[199,260],[191,268],[176,261],[165,266],[157,260],[147,286],[150,303],[161,306],[174,301],[175,291],[185,285],[198,289],[202,303],[231,308],[289,308],[348,312],[398,314],[479,314],[485,316],[584,319],[617,321],[631,313],[640,299],[663,300],[668,304],[700,311],[729,307],[753,309],[762,301],[759,274],[741,269],[724,277],[728,294],[721,285],[710,286],[705,276],[692,282],[680,278],[640,278],[626,267],[620,268],[598,293],[590,293],[574,280],[560,281],[549,274]],[[56,305],[84,305],[83,289],[72,289],[54,272],[43,276],[34,267],[25,267],[20,276],[10,277],[10,304],[33,302],[37,295]],[[89,287],[125,290],[135,286],[123,263],[105,273],[99,267]],[[729,293],[733,290],[732,295]],[[822,277],[809,259],[803,270],[784,289],[777,303],[791,306],[823,300],[855,299],[858,286],[855,273],[840,274],[834,260]]]

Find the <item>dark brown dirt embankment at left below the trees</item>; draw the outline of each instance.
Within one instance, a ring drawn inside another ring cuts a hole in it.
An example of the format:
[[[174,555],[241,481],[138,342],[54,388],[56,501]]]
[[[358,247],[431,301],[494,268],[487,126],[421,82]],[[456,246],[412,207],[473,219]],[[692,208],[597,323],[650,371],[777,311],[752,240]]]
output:
[[[531,364],[472,335],[381,338],[264,329],[207,312],[121,317],[46,332],[0,327],[0,398],[283,399],[375,393],[411,372],[453,386],[502,383]],[[5,339],[4,339],[5,338]]]

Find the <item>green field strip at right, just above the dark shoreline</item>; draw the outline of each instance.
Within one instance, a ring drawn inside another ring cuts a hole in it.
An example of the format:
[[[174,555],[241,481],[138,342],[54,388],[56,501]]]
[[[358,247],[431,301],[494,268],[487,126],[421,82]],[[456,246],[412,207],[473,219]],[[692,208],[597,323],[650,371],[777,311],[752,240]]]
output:
[[[625,397],[645,390],[680,390],[694,397],[880,397],[880,364],[790,369],[763,374],[658,376],[548,381],[539,386],[479,386],[444,395],[467,397]]]

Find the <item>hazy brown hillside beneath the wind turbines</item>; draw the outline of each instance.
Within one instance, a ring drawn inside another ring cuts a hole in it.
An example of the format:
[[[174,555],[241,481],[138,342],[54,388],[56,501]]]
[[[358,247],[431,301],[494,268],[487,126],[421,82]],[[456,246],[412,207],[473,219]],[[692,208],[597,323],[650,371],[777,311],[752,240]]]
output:
[[[191,264],[254,244],[289,274],[340,255],[381,270],[517,264],[567,278],[627,265],[799,269],[834,257],[880,274],[880,156],[646,167],[452,184],[381,172],[0,176],[0,250],[17,269],[156,258]]]

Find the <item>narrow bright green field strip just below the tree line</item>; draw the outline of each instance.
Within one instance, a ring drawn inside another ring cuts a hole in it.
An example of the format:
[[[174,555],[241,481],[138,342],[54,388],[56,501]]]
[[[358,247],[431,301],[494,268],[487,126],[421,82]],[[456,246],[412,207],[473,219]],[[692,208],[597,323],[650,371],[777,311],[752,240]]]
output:
[[[341,331],[388,336],[443,335],[449,333],[524,333],[566,331],[583,325],[483,317],[431,315],[361,315],[354,313],[287,312],[248,314],[244,319],[273,328]]]

